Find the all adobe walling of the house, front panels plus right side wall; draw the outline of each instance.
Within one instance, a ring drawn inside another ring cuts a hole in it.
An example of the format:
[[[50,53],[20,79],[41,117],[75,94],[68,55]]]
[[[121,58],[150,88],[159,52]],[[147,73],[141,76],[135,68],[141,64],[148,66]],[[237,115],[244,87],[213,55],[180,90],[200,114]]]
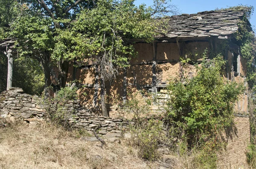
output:
[[[179,47],[178,47],[179,45]],[[155,61],[156,65],[156,77],[158,91],[162,90],[169,83],[169,79],[177,78],[181,71],[184,71],[180,64],[180,52],[183,56],[186,56],[191,60],[191,65],[186,70],[185,76],[192,78],[195,76],[196,71],[192,62],[201,62],[204,51],[207,48],[211,49],[210,42],[208,41],[185,41],[185,42],[158,42],[156,46]],[[111,107],[118,101],[122,101],[124,78],[126,78],[127,93],[135,93],[139,90],[147,92],[152,87],[153,77],[153,61],[154,61],[154,49],[153,44],[149,43],[137,43],[134,45],[137,51],[137,57],[131,59],[131,66],[127,68],[126,75],[124,70],[119,70],[119,74],[111,82],[105,82],[105,96],[109,107],[108,111],[111,115],[118,117],[119,112]],[[216,47],[215,47],[216,48]],[[227,67],[224,70],[224,76],[236,82],[244,83],[244,77],[246,75],[246,64],[243,58],[239,56],[237,60],[239,74],[236,75],[233,71],[233,51],[227,51]],[[71,67],[68,71],[68,81],[73,79],[79,80],[81,87],[78,91],[81,104],[87,106],[87,108],[93,107],[93,96],[95,94],[95,68],[93,65],[89,65],[88,68],[75,68]],[[98,89],[97,107],[100,107],[100,87]],[[235,105],[235,111],[238,114],[247,115],[247,102],[248,96],[245,92]],[[116,113],[116,114],[115,114]]]

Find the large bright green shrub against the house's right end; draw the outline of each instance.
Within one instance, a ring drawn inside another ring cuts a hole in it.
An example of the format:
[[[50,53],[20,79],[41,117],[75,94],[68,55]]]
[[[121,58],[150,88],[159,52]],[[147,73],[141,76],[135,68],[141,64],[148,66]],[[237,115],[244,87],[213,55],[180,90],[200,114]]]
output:
[[[173,128],[182,128],[180,132],[184,132],[182,136],[191,147],[212,138],[213,142],[218,140],[219,134],[233,122],[233,105],[244,87],[221,76],[224,64],[220,55],[211,61],[204,59],[196,66],[194,78],[186,82],[175,79],[168,87],[166,122]]]

